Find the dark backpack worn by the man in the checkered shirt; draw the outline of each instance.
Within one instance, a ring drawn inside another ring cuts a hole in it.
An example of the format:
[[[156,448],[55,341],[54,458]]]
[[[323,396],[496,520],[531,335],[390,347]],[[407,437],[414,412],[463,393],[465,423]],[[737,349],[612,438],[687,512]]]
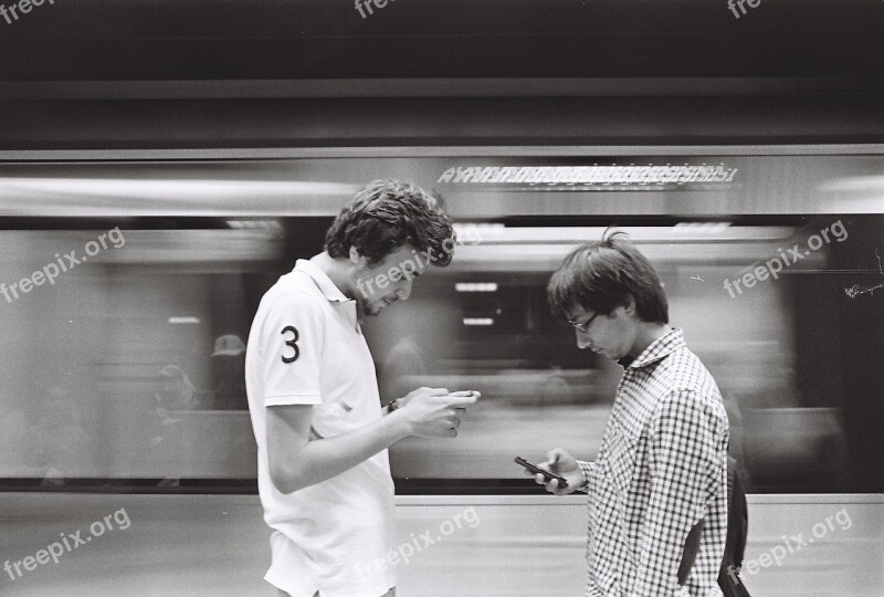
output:
[[[684,542],[684,554],[678,566],[678,584],[687,582],[687,575],[694,567],[699,551],[699,535],[703,532],[699,521],[687,533]],[[746,490],[737,473],[737,461],[727,457],[727,538],[722,567],[718,570],[718,587],[725,597],[750,597],[746,585],[739,578],[743,556],[746,551],[746,535],[749,531],[749,510],[746,505]]]

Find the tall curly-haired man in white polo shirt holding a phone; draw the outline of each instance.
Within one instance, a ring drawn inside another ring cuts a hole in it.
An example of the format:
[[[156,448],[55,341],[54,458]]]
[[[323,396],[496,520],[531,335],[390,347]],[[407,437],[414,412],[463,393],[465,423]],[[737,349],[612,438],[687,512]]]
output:
[[[394,595],[392,568],[376,566],[394,545],[387,448],[409,436],[455,437],[478,394],[420,388],[382,410],[359,317],[407,300],[429,264],[451,262],[453,244],[432,196],[375,181],[338,214],[325,251],[298,260],[261,301],[245,380],[274,530],[264,578],[282,595]]]

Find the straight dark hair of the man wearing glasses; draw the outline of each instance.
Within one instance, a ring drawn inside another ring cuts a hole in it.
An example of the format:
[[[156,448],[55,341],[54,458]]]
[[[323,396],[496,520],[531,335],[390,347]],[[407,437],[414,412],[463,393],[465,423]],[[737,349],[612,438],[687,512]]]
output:
[[[567,320],[576,306],[610,315],[635,301],[643,322],[667,324],[670,307],[654,266],[625,232],[606,230],[602,240],[571,251],[549,279],[547,300],[552,315]]]

